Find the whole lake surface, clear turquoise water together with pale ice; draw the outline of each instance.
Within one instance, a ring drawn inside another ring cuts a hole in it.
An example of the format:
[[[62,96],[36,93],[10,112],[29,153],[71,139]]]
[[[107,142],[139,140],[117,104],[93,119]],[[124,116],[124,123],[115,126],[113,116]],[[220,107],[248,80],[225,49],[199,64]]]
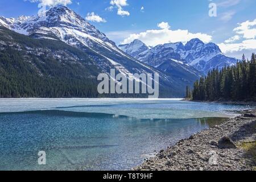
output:
[[[125,170],[250,105],[2,99],[0,170]],[[46,165],[38,152],[46,151]]]

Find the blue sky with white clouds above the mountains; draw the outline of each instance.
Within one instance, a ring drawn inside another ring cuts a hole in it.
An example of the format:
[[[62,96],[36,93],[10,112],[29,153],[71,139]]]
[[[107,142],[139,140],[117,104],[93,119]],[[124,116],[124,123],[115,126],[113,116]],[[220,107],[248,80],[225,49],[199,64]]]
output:
[[[255,0],[1,0],[0,16],[36,15],[42,5],[57,4],[76,11],[117,45],[199,38],[238,59],[256,52]]]

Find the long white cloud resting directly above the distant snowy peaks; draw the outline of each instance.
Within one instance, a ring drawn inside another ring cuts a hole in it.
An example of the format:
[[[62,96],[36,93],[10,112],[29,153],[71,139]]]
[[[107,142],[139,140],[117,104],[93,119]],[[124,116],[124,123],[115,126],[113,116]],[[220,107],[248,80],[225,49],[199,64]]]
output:
[[[188,30],[171,30],[169,24],[166,22],[159,23],[158,27],[161,29],[147,30],[139,34],[130,34],[128,38],[122,41],[122,44],[133,42],[134,39],[142,40],[142,42],[147,44],[147,46],[156,46],[158,44],[170,42],[186,43],[193,38],[199,38],[205,43],[208,43],[210,40],[212,40],[212,36],[200,32],[193,34]]]

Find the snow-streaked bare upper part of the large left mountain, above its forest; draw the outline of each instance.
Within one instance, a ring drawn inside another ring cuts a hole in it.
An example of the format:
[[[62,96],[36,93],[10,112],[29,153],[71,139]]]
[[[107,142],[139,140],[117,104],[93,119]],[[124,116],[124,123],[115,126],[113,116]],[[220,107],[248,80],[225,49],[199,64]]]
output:
[[[31,38],[48,39],[56,42],[55,44],[61,41],[79,48],[102,72],[110,73],[110,69],[115,68],[123,75],[159,73],[160,90],[164,88],[164,94],[168,97],[184,96],[185,86],[192,85],[192,82],[199,78],[195,76],[193,80],[188,80],[183,77],[174,77],[142,63],[123,52],[104,33],[65,6],[52,7],[46,11],[45,15],[20,16],[16,19],[2,16],[0,24]]]

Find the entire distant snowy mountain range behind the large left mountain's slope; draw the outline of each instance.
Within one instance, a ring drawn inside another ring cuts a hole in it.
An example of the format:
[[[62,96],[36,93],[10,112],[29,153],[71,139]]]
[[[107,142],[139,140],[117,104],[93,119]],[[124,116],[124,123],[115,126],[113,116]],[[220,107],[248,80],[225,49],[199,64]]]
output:
[[[184,67],[191,72],[198,71],[207,75],[213,68],[221,69],[225,65],[237,63],[237,59],[225,56],[216,44],[205,44],[200,39],[192,39],[185,45],[177,42],[153,48],[148,48],[140,40],[134,40],[130,44],[119,45],[119,48],[142,63],[160,68],[164,72]]]

